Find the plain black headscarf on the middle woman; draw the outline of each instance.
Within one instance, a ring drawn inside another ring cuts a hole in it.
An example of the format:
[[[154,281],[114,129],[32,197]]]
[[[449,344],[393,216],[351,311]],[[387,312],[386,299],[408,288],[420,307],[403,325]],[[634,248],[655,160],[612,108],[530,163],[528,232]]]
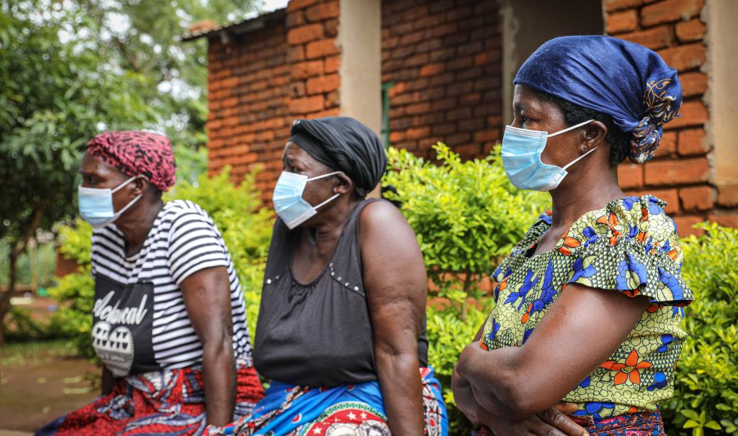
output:
[[[384,145],[370,128],[351,117],[294,120],[290,141],[333,170],[343,171],[367,195],[387,169]]]

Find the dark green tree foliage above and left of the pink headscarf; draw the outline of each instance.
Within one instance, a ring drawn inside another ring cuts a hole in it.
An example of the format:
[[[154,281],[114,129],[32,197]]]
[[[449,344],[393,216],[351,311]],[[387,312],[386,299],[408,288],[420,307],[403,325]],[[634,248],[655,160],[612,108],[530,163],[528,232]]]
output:
[[[90,39],[96,32],[89,17],[58,2],[0,7],[0,238],[13,246],[73,214],[77,162],[101,123],[154,120],[130,92],[144,77],[103,68]]]

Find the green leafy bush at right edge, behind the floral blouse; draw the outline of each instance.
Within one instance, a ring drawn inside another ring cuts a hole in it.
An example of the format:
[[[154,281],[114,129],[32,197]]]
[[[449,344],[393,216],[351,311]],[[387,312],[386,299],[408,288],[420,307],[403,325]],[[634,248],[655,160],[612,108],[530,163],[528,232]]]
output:
[[[698,224],[683,240],[683,276],[694,292],[688,337],[663,421],[673,435],[738,434],[738,229]]]

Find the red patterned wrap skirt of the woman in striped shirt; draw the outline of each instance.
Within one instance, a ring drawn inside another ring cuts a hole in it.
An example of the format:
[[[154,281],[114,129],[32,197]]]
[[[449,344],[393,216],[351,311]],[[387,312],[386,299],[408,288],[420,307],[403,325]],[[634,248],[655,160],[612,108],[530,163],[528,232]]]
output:
[[[202,367],[120,378],[108,395],[52,421],[45,435],[203,435],[207,429]],[[253,367],[238,364],[233,421],[264,396]]]

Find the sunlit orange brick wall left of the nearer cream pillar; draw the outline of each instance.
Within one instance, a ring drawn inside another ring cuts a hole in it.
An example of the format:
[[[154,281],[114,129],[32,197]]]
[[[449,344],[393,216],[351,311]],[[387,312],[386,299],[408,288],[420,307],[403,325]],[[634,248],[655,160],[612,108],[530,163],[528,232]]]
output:
[[[257,187],[269,203],[295,118],[338,114],[338,0],[292,0],[262,29],[208,49],[208,171],[232,166],[240,180],[261,166]]]

